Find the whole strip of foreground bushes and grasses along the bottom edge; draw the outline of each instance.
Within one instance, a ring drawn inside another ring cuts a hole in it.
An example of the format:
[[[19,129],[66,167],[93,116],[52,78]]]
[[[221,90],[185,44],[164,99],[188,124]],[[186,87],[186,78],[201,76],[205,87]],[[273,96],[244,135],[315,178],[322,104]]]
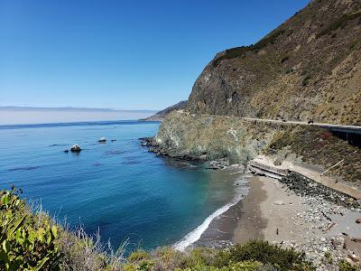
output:
[[[124,257],[106,249],[83,229],[69,231],[42,211],[32,212],[18,190],[1,193],[1,270],[314,270],[301,252],[255,240],[229,249],[157,248]]]

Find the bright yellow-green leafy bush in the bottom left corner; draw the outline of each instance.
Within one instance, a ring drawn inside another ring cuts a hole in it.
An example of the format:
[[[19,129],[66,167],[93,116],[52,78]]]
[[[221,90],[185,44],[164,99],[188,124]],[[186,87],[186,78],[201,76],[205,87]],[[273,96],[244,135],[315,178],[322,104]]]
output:
[[[21,191],[20,191],[21,192]],[[59,270],[58,229],[49,218],[37,225],[14,187],[0,202],[0,269]]]

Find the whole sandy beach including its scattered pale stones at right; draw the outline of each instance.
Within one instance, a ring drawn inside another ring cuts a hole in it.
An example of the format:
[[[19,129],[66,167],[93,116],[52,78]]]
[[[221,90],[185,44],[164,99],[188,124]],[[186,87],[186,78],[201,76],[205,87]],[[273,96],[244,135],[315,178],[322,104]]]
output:
[[[239,220],[233,241],[262,238],[306,252],[318,270],[336,270],[336,262],[361,258],[360,210],[347,209],[318,197],[298,196],[282,182],[254,177],[250,190],[235,208]],[[229,210],[230,212],[232,210]],[[226,214],[225,214],[226,215]],[[325,255],[333,259],[329,263]]]

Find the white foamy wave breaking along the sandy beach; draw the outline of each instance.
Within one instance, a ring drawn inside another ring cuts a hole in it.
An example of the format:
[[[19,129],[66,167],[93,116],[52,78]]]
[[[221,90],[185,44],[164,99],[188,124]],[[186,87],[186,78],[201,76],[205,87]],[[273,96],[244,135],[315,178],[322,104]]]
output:
[[[239,185],[240,183],[246,183],[247,181],[244,178],[236,180],[235,184]],[[175,243],[173,245],[173,248],[176,250],[184,251],[186,248],[188,248],[191,244],[198,241],[203,232],[205,232],[210,222],[212,220],[218,218],[221,214],[229,210],[232,206],[235,206],[239,201],[241,201],[244,198],[244,195],[248,192],[248,188],[240,187],[236,188],[236,197],[233,201],[227,203],[226,205],[222,206],[218,210],[214,211],[202,224],[199,225],[196,229],[193,229],[190,231],[189,234],[187,234],[184,238],[182,238],[180,241]]]

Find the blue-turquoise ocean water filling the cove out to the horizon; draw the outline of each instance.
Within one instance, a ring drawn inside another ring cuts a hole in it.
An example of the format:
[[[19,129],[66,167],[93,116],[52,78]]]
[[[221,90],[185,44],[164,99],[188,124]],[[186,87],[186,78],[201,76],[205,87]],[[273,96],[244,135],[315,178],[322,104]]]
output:
[[[138,138],[155,135],[158,126],[0,126],[0,188],[22,188],[52,216],[82,224],[89,234],[99,229],[114,247],[127,238],[129,248],[174,244],[226,204],[232,186],[211,183],[212,172],[201,164],[149,153]],[[97,143],[102,136],[106,144]],[[63,152],[74,144],[80,154]]]

